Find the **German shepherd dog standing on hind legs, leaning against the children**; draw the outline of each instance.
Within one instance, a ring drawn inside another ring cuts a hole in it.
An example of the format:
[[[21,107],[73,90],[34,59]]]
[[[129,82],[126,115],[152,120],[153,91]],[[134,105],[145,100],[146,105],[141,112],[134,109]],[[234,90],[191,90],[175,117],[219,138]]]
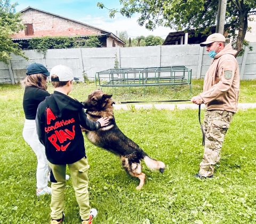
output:
[[[92,121],[97,121],[100,117],[108,117],[107,126],[101,127],[97,131],[83,130],[87,138],[96,146],[111,151],[121,158],[124,170],[140,179],[137,190],[141,189],[145,183],[146,175],[142,173],[141,160],[144,159],[149,169],[164,172],[165,164],[150,158],[135,142],[127,138],[118,128],[113,112],[112,95],[103,93],[101,90],[93,91],[88,99],[83,102],[86,114]]]

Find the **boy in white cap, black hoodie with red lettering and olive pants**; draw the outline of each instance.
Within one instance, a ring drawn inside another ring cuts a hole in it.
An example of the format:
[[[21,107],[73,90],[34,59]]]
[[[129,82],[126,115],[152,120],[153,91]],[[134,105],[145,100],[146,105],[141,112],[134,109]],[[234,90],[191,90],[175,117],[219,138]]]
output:
[[[70,68],[58,65],[52,68],[53,94],[41,102],[37,109],[36,127],[39,140],[52,169],[51,223],[61,223],[64,215],[65,174],[68,164],[83,224],[91,224],[97,210],[91,209],[88,193],[89,165],[85,155],[81,126],[97,130],[106,126],[108,118],[97,122],[87,119],[82,103],[70,98],[73,73]]]

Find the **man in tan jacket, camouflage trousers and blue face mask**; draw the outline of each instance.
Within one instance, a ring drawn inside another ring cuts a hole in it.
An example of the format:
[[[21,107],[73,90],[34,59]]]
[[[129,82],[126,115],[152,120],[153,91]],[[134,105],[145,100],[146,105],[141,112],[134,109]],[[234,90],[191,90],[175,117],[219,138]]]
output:
[[[237,51],[231,44],[225,46],[222,34],[212,34],[200,46],[213,58],[204,78],[203,92],[191,98],[191,102],[205,104],[204,117],[205,148],[203,161],[196,178],[213,177],[214,164],[220,160],[222,142],[237,111],[239,92],[239,68],[235,58]]]

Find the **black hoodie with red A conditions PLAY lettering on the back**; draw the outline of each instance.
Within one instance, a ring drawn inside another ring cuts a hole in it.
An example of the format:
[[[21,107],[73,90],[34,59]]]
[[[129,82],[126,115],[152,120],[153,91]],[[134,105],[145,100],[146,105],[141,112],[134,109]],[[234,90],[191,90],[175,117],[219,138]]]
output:
[[[38,105],[36,130],[50,163],[70,164],[85,156],[80,125],[90,131],[100,128],[87,119],[82,103],[66,94],[54,91]]]

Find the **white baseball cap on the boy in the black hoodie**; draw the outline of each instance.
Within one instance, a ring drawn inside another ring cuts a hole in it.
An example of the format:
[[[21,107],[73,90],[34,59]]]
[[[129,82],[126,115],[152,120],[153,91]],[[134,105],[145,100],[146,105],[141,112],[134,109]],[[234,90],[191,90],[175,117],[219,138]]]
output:
[[[52,78],[52,75],[56,75],[58,77]],[[71,68],[63,65],[54,66],[50,71],[50,77],[52,82],[66,82],[71,80],[78,80],[79,78],[75,78]]]

